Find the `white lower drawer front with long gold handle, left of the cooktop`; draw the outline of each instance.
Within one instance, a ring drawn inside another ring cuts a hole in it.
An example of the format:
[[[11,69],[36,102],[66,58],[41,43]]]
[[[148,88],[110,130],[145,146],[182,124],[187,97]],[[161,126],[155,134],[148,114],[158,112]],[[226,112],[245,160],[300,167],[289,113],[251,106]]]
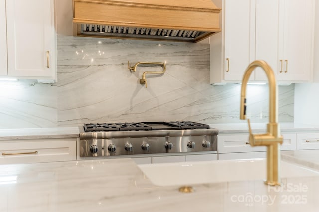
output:
[[[77,138],[0,141],[0,164],[76,160]]]

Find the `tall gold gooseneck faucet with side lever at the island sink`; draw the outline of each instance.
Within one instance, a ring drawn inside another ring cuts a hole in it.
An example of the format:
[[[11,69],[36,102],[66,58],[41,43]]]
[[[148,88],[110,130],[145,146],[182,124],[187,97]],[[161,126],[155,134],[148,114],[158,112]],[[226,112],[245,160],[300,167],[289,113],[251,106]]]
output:
[[[240,119],[246,119],[246,87],[251,73],[256,67],[261,67],[268,78],[269,85],[269,123],[267,124],[267,133],[252,134],[250,121],[249,143],[251,146],[267,147],[267,180],[265,184],[275,186],[280,185],[280,145],[283,143],[283,137],[280,134],[280,127],[277,115],[277,85],[273,70],[262,60],[256,60],[248,65],[242,80],[240,97]]]

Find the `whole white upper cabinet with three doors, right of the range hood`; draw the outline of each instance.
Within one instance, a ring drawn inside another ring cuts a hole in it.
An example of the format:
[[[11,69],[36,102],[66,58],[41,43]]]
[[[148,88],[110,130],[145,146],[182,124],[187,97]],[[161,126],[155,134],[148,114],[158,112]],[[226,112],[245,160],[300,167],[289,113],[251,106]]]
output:
[[[223,22],[222,32],[210,37],[210,83],[240,82],[254,60],[265,60],[278,80],[310,80],[314,0],[219,0],[216,5],[222,5]],[[267,78],[257,68],[250,80]]]

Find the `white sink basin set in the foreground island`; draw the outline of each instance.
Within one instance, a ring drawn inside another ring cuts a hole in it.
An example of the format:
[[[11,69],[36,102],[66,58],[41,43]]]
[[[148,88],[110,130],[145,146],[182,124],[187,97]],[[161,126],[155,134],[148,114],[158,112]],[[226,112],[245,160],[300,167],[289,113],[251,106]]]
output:
[[[138,165],[157,186],[193,185],[266,178],[266,159],[218,160]],[[281,178],[319,176],[319,172],[281,162]]]

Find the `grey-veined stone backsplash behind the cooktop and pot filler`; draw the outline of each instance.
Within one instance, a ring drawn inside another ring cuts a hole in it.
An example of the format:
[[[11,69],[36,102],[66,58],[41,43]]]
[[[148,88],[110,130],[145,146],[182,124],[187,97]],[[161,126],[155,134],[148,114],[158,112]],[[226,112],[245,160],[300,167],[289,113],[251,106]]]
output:
[[[0,128],[71,127],[83,123],[239,120],[240,84],[209,84],[209,44],[58,36],[58,82],[12,82],[0,94]],[[139,83],[140,61],[164,62],[164,74]],[[248,64],[247,64],[248,65]],[[0,82],[0,86],[8,86]],[[2,89],[3,90],[3,89]],[[4,90],[9,90],[8,88]],[[294,85],[279,87],[279,122],[294,121]],[[248,115],[268,122],[268,86],[249,85]],[[15,124],[18,123],[18,126]]]

